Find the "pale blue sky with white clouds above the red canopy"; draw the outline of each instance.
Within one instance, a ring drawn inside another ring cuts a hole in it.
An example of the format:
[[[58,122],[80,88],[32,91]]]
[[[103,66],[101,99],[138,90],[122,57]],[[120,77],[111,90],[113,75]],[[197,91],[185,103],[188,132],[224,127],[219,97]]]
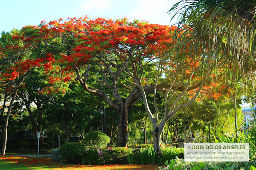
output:
[[[171,25],[168,10],[179,0],[3,0],[0,33],[60,18],[124,18]]]

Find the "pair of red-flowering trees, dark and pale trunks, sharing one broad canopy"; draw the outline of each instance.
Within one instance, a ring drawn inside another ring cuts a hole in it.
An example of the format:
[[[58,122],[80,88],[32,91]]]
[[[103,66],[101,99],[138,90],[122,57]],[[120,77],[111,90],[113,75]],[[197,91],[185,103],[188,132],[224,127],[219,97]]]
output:
[[[188,57],[188,53],[177,53],[180,54],[178,57],[170,53],[176,42],[174,31],[176,27],[128,22],[126,18],[42,21],[38,26],[24,27],[12,35],[12,40],[18,42],[17,48],[11,44],[2,48],[1,56],[10,57],[7,49],[12,49],[12,57],[16,59],[16,54],[24,51],[23,57],[9,71],[6,68],[5,79],[16,80],[19,75],[24,75],[23,70],[42,67],[49,82],[60,84],[59,88],[44,89],[45,93],[51,93],[61,90],[62,83],[72,80],[75,74],[85,91],[99,96],[118,112],[117,145],[120,147],[128,142],[128,112],[143,97],[154,126],[155,151],[160,152],[160,132],[166,121],[196,99],[213,69],[200,69],[198,62],[204,59],[200,57],[202,53],[194,54],[194,57]],[[90,79],[96,77],[99,83],[103,82],[104,88],[109,89],[107,92],[112,92],[107,93],[90,84]],[[146,94],[156,94],[157,89],[166,92],[163,123],[158,121],[157,107],[153,116],[146,102]],[[192,100],[175,108],[190,90],[196,90]],[[171,105],[172,99],[175,102]]]

